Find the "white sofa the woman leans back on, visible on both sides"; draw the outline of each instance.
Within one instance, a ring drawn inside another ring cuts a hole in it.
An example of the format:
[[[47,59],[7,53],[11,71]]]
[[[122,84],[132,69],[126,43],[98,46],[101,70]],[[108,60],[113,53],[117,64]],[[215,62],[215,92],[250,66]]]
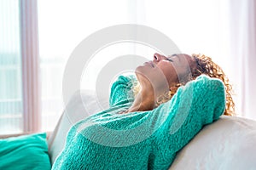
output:
[[[91,90],[73,95],[47,139],[51,164],[63,149],[69,128],[84,116],[106,108],[108,96],[96,95]],[[238,116],[221,116],[218,121],[203,127],[177,153],[169,169],[256,169],[255,144],[255,121]]]

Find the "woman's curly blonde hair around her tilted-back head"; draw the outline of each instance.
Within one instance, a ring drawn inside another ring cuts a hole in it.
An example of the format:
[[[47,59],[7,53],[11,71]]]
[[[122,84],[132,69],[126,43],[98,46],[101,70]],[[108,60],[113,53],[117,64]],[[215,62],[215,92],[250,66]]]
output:
[[[191,80],[195,80],[196,77],[201,76],[202,74],[207,75],[208,77],[214,77],[220,79],[224,82],[225,92],[226,92],[226,107],[224,111],[224,115],[226,116],[235,116],[235,103],[231,96],[232,94],[232,86],[230,85],[228,77],[224,74],[224,71],[218,66],[216,63],[212,61],[212,59],[204,54],[192,54],[192,58],[195,59],[196,69],[191,71],[185,78],[183,78],[182,82],[176,84],[175,87],[171,87],[171,90],[166,92],[166,94],[160,95],[155,102],[155,106],[162,103],[166,103],[166,101],[172,99],[172,96],[176,94],[177,88],[185,85],[187,82]],[[190,72],[190,71],[189,71]],[[137,95],[140,89],[140,85],[137,84],[133,88],[134,95]]]

